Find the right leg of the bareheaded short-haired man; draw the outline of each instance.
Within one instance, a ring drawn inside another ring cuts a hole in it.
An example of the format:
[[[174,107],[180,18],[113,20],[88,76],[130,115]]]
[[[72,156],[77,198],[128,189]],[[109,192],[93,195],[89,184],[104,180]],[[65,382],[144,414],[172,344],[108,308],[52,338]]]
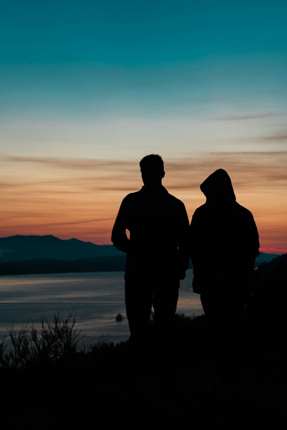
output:
[[[173,388],[175,380],[175,347],[173,320],[179,296],[179,281],[165,280],[153,289],[152,304],[157,332],[157,369],[161,390]]]

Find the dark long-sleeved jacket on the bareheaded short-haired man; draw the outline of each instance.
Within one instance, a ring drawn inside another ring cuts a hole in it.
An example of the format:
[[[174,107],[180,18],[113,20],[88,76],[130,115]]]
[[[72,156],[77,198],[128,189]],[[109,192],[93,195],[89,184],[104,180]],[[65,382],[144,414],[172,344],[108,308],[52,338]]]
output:
[[[125,279],[183,279],[189,261],[188,227],[184,204],[162,185],[144,185],[128,194],[111,235],[114,246],[127,252]]]

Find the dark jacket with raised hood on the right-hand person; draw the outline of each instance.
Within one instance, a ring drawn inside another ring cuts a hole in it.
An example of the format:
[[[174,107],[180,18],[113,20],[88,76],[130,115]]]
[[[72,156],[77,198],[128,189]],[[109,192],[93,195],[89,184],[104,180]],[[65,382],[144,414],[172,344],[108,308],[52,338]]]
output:
[[[236,203],[227,172],[218,169],[202,184],[206,203],[195,210],[189,229],[193,291],[250,289],[259,255],[252,213]]]

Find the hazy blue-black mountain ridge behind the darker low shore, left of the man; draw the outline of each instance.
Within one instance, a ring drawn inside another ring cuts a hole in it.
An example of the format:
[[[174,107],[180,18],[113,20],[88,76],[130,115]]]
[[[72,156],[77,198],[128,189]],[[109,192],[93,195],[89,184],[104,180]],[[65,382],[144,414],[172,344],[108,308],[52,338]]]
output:
[[[91,242],[49,236],[10,236],[0,238],[0,261],[28,261],[48,258],[75,261],[81,258],[123,256],[114,245],[95,245]]]

